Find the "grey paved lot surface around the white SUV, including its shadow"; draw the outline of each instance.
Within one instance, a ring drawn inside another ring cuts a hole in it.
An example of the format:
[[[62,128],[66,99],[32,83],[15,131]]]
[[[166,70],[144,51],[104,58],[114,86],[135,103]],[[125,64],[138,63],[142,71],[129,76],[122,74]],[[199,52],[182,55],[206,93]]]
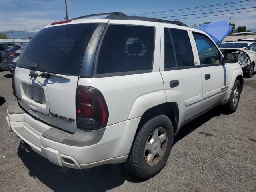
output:
[[[132,176],[122,164],[73,170],[27,154],[6,122],[14,99],[10,72],[0,72],[0,86],[0,191],[256,192],[256,75],[245,79],[235,113],[217,107],[184,126],[166,166],[149,180]]]

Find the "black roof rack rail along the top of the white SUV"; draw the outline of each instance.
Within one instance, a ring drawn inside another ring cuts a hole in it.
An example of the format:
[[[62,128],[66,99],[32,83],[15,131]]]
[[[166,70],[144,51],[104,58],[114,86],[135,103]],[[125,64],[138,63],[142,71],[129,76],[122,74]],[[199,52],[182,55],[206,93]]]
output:
[[[84,18],[88,18],[88,17],[103,16],[103,15],[108,15],[108,16],[106,16],[106,19],[152,21],[152,22],[161,22],[161,23],[171,23],[171,24],[176,24],[176,25],[188,27],[186,24],[184,24],[180,21],[169,21],[169,20],[149,18],[149,17],[128,16],[128,15],[126,15],[124,13],[121,13],[121,12],[98,13],[98,14],[84,15],[84,16],[77,17],[77,18],[74,18],[74,19],[84,19]]]

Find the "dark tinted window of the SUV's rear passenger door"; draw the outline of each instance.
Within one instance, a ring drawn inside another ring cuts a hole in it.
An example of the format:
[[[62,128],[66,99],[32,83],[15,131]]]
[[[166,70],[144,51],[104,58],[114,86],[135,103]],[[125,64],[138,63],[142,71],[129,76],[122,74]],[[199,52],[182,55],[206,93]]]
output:
[[[188,32],[164,29],[164,67],[194,66],[194,56]]]

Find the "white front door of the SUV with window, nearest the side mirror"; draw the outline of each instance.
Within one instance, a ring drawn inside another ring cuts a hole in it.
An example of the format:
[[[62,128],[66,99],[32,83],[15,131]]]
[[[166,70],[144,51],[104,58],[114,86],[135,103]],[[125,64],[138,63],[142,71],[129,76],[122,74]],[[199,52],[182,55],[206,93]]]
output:
[[[200,112],[215,106],[222,101],[228,84],[225,64],[222,64],[222,54],[216,44],[206,35],[191,32],[194,37],[200,70],[202,72],[203,93]]]

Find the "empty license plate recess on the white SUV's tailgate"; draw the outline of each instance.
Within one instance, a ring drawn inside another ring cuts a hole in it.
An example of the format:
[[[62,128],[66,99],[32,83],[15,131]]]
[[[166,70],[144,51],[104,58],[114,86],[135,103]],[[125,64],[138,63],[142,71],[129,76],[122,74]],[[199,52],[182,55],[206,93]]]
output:
[[[22,88],[27,98],[40,104],[46,104],[43,88],[26,83],[22,83]]]

